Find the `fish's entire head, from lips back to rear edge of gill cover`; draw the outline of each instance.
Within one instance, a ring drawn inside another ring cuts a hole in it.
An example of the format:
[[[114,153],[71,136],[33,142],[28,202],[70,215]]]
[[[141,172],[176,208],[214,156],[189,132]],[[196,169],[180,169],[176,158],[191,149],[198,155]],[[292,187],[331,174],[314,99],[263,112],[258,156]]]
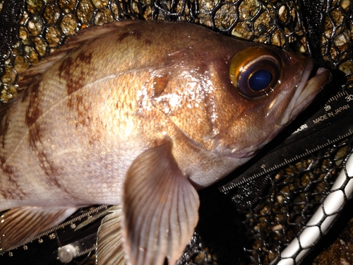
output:
[[[191,69],[179,65],[154,100],[194,145],[237,167],[312,102],[330,73],[312,73],[312,59],[266,45],[235,42],[217,52],[199,55],[203,63]]]

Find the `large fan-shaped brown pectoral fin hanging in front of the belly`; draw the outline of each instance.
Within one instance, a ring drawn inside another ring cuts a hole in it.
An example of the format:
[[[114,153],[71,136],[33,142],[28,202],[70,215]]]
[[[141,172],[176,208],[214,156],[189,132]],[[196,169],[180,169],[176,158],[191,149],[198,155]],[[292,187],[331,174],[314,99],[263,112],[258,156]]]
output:
[[[132,265],[175,264],[193,235],[200,201],[179,169],[172,143],[134,160],[124,183],[123,235]]]

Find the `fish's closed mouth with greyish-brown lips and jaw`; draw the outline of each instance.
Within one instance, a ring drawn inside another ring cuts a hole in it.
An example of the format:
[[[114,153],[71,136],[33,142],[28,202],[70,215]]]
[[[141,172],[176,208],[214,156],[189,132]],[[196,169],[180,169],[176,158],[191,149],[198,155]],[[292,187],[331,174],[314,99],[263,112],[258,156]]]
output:
[[[306,66],[297,90],[293,95],[293,100],[289,103],[281,121],[277,123],[278,126],[284,126],[294,117],[297,117],[313,101],[313,98],[318,95],[323,86],[331,80],[331,73],[325,68],[319,68],[316,71],[316,75],[310,78],[313,66],[313,61],[310,61]]]

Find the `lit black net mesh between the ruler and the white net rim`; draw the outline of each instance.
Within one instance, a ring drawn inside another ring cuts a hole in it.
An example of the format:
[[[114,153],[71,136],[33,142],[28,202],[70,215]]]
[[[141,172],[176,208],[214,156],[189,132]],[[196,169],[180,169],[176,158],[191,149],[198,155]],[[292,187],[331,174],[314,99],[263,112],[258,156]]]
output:
[[[253,239],[246,252],[257,257],[259,264],[269,264],[299,235],[330,192],[351,151],[347,139],[270,175],[268,192],[244,221],[252,228]]]

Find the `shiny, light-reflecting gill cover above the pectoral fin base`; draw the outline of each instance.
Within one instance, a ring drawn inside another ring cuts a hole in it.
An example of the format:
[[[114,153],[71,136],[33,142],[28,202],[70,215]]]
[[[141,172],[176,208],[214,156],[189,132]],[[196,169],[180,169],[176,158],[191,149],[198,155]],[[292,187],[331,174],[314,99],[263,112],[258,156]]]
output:
[[[213,95],[199,76],[181,73],[177,78],[162,77],[154,87],[152,105],[167,115],[179,130],[196,143],[212,138]]]

